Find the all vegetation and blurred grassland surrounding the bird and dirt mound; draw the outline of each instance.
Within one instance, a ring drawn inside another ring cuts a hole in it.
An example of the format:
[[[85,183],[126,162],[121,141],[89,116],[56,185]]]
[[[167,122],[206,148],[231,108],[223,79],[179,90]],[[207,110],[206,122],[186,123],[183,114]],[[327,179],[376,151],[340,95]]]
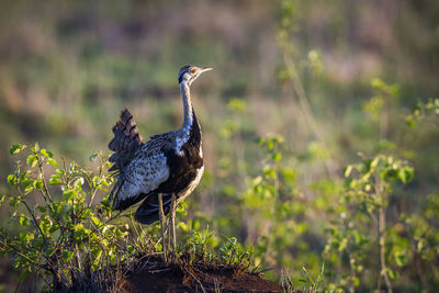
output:
[[[156,226],[109,207],[106,144],[123,106],[143,137],[177,128],[189,63],[215,70],[193,89],[206,171],[180,257],[296,290],[435,291],[436,2],[4,3],[0,289],[161,251]]]

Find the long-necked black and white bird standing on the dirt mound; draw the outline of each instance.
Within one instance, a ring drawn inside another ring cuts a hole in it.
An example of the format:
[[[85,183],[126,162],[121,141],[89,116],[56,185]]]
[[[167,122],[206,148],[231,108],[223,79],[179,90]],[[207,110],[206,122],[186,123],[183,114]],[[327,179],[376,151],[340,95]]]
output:
[[[134,218],[148,225],[160,221],[165,259],[166,215],[170,214],[176,251],[176,207],[192,193],[204,172],[202,133],[190,87],[201,74],[212,69],[185,65],[179,70],[177,79],[183,104],[179,129],[156,134],[143,142],[133,115],[123,109],[109,143],[110,150],[114,151],[109,159],[114,165],[109,170],[116,177],[110,192],[112,206],[123,211],[143,201]]]

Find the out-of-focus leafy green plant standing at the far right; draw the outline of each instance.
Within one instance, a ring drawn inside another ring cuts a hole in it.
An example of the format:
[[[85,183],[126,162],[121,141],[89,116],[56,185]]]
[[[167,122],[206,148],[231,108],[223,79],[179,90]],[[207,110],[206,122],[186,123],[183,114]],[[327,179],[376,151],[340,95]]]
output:
[[[389,267],[389,252],[394,253],[393,257],[398,260],[396,264],[399,267],[406,262],[401,258],[404,248],[397,247],[397,241],[387,244],[389,229],[385,215],[393,182],[410,182],[414,169],[407,161],[392,156],[378,155],[373,158],[361,156],[361,158],[360,164],[345,168],[346,192],[341,204],[346,209],[340,214],[340,219],[328,229],[330,238],[325,252],[333,261],[346,260],[349,274],[344,274],[341,268],[345,264],[341,264],[338,274],[345,278],[339,278],[339,284],[349,288],[351,292],[359,286],[359,275],[363,273],[365,263],[372,266],[371,259],[367,256],[378,256],[376,288],[381,291],[384,279],[387,291],[392,292],[391,279],[397,275]]]

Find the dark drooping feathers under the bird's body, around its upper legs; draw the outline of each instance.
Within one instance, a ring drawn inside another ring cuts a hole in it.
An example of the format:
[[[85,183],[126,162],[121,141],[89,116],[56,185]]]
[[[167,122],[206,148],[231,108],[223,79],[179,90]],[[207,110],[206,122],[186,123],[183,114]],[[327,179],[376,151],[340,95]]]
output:
[[[170,205],[172,202],[172,194],[171,193],[164,193],[164,212],[165,215],[169,214]],[[158,193],[151,193],[142,205],[137,209],[134,218],[142,223],[150,225],[157,221],[159,221],[159,204],[158,204]]]

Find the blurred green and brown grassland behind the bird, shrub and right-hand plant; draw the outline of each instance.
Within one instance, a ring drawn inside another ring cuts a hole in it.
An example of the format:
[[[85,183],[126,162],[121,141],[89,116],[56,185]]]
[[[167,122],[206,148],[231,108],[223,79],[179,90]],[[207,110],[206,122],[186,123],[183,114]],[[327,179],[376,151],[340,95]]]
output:
[[[300,283],[303,267],[315,278],[325,262],[326,288],[369,291],[380,272],[373,218],[346,224],[364,246],[330,248],[328,229],[361,213],[340,200],[344,167],[358,153],[395,156],[415,177],[389,195],[392,283],[437,288],[435,0],[1,1],[0,177],[13,143],[86,166],[110,154],[124,106],[144,138],[178,128],[185,64],[215,70],[192,86],[206,173],[184,221],[255,247],[269,278],[284,267]]]

